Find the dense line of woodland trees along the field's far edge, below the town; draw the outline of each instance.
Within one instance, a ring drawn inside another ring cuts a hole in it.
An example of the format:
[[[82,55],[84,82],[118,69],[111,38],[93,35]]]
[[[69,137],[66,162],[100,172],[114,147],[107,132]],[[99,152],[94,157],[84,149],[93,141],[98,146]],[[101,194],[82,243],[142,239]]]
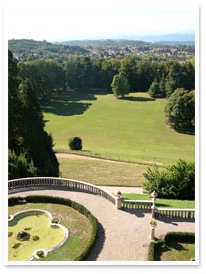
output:
[[[176,88],[195,89],[194,60],[180,64],[70,56],[68,61],[30,61],[18,63],[22,78],[29,78],[38,98],[49,99],[61,90],[111,90],[113,77],[124,72],[131,90],[148,92],[152,97],[165,98]]]

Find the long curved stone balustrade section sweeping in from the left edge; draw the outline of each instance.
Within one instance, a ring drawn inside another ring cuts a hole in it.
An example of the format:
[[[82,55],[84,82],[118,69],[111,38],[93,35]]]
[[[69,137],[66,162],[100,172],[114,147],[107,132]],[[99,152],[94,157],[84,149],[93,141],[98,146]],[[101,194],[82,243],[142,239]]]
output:
[[[91,193],[104,197],[118,207],[118,197],[98,186],[81,181],[55,177],[20,178],[8,181],[9,194],[14,193],[15,190],[22,188],[27,189],[38,187],[62,187],[68,190],[73,189],[81,192]]]

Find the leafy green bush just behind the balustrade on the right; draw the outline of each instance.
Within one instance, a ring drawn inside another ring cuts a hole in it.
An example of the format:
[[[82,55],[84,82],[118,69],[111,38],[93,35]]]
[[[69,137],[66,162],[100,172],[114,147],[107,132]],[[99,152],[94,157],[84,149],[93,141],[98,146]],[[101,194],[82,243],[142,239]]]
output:
[[[195,164],[182,159],[176,164],[167,166],[160,171],[157,165],[149,167],[143,174],[146,181],[143,182],[145,191],[151,193],[154,190],[158,197],[168,199],[195,199]]]

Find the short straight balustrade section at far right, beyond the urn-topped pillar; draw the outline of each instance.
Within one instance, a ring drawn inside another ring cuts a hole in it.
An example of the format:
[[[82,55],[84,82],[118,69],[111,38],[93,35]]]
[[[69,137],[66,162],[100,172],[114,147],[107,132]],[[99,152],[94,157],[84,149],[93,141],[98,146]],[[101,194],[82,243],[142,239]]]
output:
[[[187,208],[156,208],[155,218],[195,218],[195,209]]]

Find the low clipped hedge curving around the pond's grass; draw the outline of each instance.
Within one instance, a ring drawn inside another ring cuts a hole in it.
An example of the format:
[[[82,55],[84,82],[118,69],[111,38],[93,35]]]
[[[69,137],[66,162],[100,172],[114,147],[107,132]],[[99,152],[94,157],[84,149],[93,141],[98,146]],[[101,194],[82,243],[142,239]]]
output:
[[[24,198],[11,197],[8,199],[9,206],[14,206],[17,204],[22,204],[22,203],[62,204],[62,205],[69,206],[69,207],[77,210],[81,214],[85,215],[88,218],[88,220],[92,226],[92,235],[90,237],[88,245],[85,247],[85,250],[75,260],[82,261],[82,260],[86,259],[86,257],[89,255],[89,252],[91,251],[92,246],[94,245],[94,242],[95,242],[95,239],[97,236],[97,220],[86,207],[84,207],[83,205],[76,203],[70,199],[65,199],[65,198],[61,198],[61,197],[52,197],[52,196],[46,196],[46,195],[29,195]]]

